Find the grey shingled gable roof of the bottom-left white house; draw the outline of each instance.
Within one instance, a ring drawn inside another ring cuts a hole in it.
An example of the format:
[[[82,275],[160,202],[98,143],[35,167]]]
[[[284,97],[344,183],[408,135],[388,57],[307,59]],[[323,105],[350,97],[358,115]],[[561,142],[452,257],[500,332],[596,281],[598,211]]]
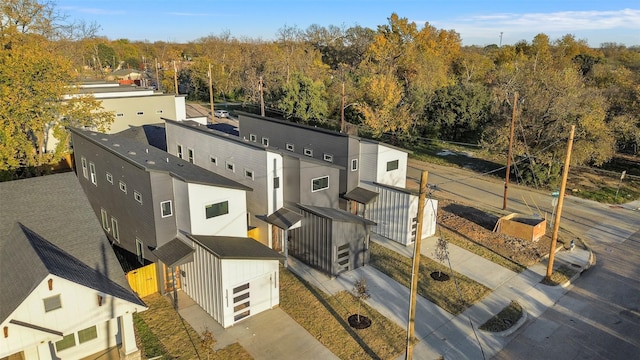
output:
[[[0,183],[0,321],[47,276],[144,306],[74,173]]]

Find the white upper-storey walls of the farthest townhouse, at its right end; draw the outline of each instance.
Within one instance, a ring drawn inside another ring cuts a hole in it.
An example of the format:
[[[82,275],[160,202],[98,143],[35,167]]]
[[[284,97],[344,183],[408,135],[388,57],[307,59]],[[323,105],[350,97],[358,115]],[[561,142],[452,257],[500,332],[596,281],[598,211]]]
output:
[[[387,170],[389,162],[397,161],[398,167]],[[407,153],[377,142],[360,143],[360,181],[404,188],[407,181]]]

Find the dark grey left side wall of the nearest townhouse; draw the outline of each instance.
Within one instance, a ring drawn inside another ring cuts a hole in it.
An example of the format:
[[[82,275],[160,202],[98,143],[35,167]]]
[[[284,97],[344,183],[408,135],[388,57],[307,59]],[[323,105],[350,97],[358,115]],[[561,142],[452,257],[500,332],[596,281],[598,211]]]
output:
[[[138,238],[143,242],[145,258],[154,261],[155,257],[147,248],[158,246],[149,173],[80,136],[73,136],[73,148],[78,179],[98,219],[101,221],[101,209],[105,209],[110,226],[111,218],[117,219],[120,234],[118,245],[135,254]],[[83,176],[82,157],[96,165],[97,186]],[[107,181],[107,172],[113,176],[113,184]],[[120,190],[119,181],[126,184],[126,193]],[[134,199],[134,191],[142,195],[142,204]],[[108,236],[114,241],[111,229]]]

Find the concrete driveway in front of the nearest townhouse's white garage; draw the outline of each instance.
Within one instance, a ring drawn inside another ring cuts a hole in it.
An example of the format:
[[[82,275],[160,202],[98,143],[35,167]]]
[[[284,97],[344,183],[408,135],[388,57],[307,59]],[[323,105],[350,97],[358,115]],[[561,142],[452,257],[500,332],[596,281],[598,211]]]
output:
[[[187,294],[178,292],[178,312],[199,334],[209,329],[215,349],[235,342],[256,359],[338,359],[279,307],[224,329]]]

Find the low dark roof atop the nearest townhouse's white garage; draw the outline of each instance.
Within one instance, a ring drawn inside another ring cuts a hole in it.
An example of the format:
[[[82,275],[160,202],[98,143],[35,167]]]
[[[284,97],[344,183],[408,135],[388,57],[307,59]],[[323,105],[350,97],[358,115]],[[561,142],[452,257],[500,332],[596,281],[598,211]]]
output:
[[[234,236],[187,235],[220,259],[284,260],[284,256],[257,240]]]

